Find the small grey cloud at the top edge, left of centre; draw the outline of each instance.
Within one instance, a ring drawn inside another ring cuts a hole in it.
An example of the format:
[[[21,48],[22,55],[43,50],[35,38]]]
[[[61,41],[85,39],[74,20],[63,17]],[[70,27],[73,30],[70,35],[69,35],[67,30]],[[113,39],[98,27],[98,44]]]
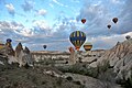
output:
[[[22,4],[22,9],[28,12],[28,11],[31,11],[33,9],[33,6],[34,6],[34,2],[33,1],[28,1],[28,0],[24,0],[24,3]]]

